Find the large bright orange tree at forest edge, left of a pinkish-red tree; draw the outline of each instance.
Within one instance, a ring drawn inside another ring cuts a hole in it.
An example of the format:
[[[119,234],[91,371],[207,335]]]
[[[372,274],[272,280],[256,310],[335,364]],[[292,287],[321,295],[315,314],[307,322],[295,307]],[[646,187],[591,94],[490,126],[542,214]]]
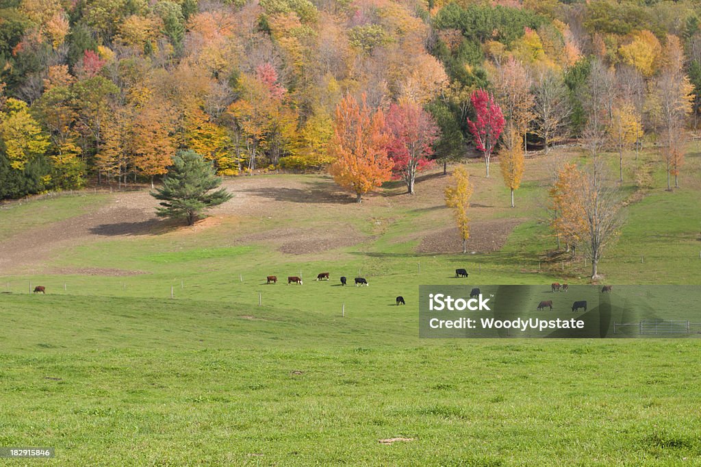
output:
[[[336,106],[329,173],[341,187],[362,195],[390,180],[393,162],[387,155],[388,135],[381,110],[372,111],[362,95],[362,106],[351,95]]]

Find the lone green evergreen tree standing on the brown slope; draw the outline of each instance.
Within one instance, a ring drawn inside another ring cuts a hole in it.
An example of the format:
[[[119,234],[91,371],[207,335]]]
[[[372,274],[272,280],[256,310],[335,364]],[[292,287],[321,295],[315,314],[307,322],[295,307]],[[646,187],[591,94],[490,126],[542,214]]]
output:
[[[231,199],[224,188],[210,192],[220,184],[222,179],[215,175],[212,163],[195,151],[179,151],[163,179],[163,188],[151,191],[151,196],[162,201],[156,215],[185,218],[192,225],[204,210]]]

